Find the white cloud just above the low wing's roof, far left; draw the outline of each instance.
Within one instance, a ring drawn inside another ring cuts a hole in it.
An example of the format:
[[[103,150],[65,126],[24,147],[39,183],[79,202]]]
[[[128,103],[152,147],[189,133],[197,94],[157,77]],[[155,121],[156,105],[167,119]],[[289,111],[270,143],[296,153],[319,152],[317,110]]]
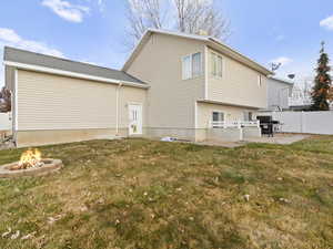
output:
[[[3,46],[14,46],[29,50],[37,53],[44,53],[53,56],[64,58],[63,53],[57,49],[52,49],[43,42],[28,40],[21,38],[14,30],[0,28],[0,60],[3,58]],[[0,87],[3,84],[3,66],[0,66]]]

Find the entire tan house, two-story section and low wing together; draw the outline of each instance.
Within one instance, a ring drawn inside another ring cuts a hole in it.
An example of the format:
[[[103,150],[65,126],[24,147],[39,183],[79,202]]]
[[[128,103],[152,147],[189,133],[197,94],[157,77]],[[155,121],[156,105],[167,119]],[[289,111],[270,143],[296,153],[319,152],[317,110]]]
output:
[[[260,136],[269,70],[214,38],[148,30],[121,71],[4,49],[18,146]]]

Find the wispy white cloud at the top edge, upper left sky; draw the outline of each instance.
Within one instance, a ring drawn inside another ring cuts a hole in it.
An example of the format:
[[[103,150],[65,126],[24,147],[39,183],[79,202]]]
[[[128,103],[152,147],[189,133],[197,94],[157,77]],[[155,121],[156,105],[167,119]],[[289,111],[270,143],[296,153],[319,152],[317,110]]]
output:
[[[99,0],[99,3],[102,1]],[[50,8],[60,18],[70,22],[82,22],[83,15],[88,14],[90,9],[83,6],[74,6],[62,0],[43,0],[42,6]]]

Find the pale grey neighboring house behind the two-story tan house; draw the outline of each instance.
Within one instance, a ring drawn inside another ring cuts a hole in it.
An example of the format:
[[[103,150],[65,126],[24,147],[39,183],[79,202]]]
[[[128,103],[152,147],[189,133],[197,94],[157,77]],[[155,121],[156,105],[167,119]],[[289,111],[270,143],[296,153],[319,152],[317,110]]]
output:
[[[294,83],[289,80],[270,76],[268,79],[268,110],[284,111],[290,108],[289,100],[293,93]]]

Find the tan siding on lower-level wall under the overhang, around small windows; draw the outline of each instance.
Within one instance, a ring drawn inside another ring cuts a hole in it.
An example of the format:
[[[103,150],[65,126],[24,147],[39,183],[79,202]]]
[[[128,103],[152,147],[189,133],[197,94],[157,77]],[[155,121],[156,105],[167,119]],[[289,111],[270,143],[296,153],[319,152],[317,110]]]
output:
[[[198,128],[208,128],[213,112],[223,112],[224,121],[243,121],[244,112],[255,113],[256,110],[235,107],[229,105],[198,103]]]

